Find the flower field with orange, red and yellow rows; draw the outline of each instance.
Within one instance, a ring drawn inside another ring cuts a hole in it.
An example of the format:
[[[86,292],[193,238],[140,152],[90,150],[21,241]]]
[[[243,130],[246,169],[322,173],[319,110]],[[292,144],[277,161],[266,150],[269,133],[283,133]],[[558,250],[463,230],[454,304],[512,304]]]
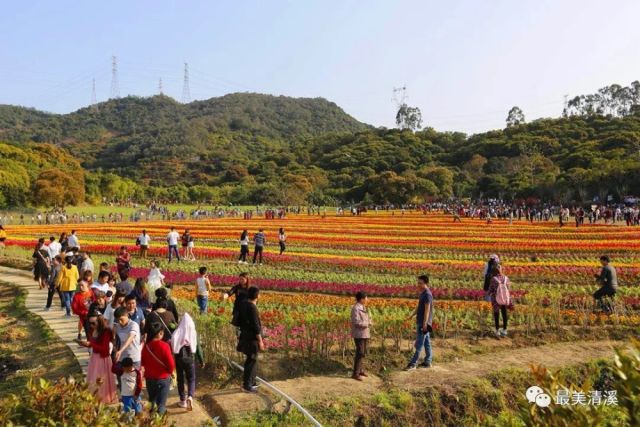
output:
[[[322,218],[298,215],[283,220],[239,218],[207,221],[141,222],[11,227],[9,247],[33,248],[36,238],[77,230],[83,250],[96,261],[113,262],[122,245],[134,254],[144,228],[152,237],[150,257],[166,257],[170,225],[195,238],[196,263],[162,262],[173,297],[196,311],[197,267],[206,265],[216,291],[209,314],[197,318],[210,350],[233,352],[229,327],[231,304],[222,290],[248,271],[263,292],[260,308],[268,347],[286,354],[344,354],[350,349],[349,309],[353,295],[370,295],[374,335],[382,348],[402,350],[413,333],[407,315],[415,305],[415,277],[427,273],[435,301],[439,338],[483,336],[491,330],[491,307],[483,300],[482,270],[489,254],[500,255],[513,286],[515,308],[510,324],[524,336],[563,328],[640,327],[640,233],[636,228],[556,223],[463,220],[442,214],[388,212]],[[287,251],[278,255],[277,230],[287,232]],[[238,265],[238,238],[259,228],[267,235],[262,266]],[[607,254],[618,271],[615,313],[593,308],[593,275],[598,257]],[[134,258],[132,275],[145,277],[147,262]]]

